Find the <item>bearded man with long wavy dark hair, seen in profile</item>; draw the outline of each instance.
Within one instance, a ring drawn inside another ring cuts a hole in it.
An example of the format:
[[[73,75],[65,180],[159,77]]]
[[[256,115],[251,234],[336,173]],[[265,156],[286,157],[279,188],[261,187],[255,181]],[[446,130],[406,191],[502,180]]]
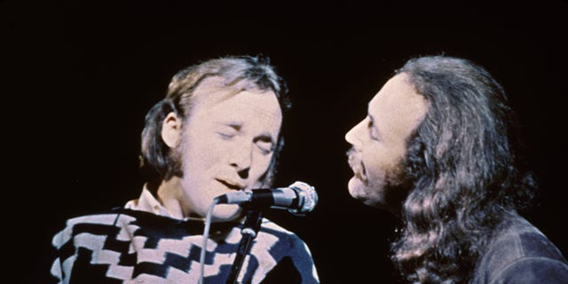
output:
[[[536,183],[505,92],[467,59],[410,59],[346,135],[349,192],[401,217],[391,259],[411,283],[568,283],[517,212]]]

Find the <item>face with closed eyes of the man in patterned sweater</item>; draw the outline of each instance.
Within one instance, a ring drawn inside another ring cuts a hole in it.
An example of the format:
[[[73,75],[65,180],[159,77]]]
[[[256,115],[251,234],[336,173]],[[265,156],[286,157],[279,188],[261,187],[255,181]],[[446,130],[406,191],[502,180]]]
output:
[[[180,148],[185,208],[204,217],[218,195],[264,186],[281,123],[280,104],[272,91],[196,99]],[[213,219],[240,214],[238,205],[217,205]]]

